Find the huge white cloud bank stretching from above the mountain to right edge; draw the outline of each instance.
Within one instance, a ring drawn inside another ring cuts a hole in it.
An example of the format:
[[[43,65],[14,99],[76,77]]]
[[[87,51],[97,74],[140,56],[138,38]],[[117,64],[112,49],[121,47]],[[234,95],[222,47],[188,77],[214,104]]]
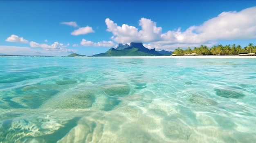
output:
[[[199,26],[190,26],[185,31],[169,30],[162,33],[162,28],[150,19],[141,18],[138,30],[135,26],[123,24],[118,26],[112,20],[105,20],[107,31],[117,43],[150,42],[152,48],[174,49],[187,48],[195,45],[212,46],[217,40],[238,40],[256,38],[256,7],[242,11],[222,12],[217,17],[203,22]]]

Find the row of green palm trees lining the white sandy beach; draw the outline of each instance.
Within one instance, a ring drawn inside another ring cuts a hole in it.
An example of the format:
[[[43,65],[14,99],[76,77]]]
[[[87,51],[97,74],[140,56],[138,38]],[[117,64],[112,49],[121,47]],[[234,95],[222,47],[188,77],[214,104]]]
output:
[[[190,47],[185,50],[176,48],[173,51],[173,54],[176,55],[185,55],[191,53],[197,53],[198,55],[239,55],[241,53],[256,53],[256,46],[254,46],[252,43],[248,44],[248,46],[245,46],[244,48],[242,48],[240,45],[236,46],[236,44],[232,44],[232,46],[230,46],[230,44],[225,46],[219,44],[217,46],[212,46],[211,48],[201,45],[200,47],[194,47],[194,49],[191,49]]]

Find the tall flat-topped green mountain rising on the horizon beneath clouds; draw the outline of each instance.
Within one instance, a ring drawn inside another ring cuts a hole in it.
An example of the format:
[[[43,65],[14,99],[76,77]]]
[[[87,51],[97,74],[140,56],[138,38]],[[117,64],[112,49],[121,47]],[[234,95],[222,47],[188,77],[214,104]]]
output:
[[[119,47],[122,47],[121,44],[119,44]],[[125,45],[123,45],[124,47]],[[123,48],[122,47],[122,48]],[[131,42],[130,46],[127,48],[123,48],[121,50],[118,50],[116,48],[110,48],[106,53],[100,53],[93,56],[161,56],[162,54],[155,51],[155,48],[148,49],[143,46],[142,43],[135,43]]]

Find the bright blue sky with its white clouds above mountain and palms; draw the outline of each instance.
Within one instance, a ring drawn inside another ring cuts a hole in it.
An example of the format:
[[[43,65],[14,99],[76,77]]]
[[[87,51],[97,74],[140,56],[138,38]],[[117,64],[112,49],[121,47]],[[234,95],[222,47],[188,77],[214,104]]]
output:
[[[0,53],[95,55],[256,44],[255,0],[0,0]]]

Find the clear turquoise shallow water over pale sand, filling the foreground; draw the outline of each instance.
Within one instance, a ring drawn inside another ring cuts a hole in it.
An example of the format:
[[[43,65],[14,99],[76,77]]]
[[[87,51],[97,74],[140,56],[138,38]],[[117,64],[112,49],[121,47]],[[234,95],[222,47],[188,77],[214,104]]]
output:
[[[0,143],[254,143],[255,64],[0,57]]]

